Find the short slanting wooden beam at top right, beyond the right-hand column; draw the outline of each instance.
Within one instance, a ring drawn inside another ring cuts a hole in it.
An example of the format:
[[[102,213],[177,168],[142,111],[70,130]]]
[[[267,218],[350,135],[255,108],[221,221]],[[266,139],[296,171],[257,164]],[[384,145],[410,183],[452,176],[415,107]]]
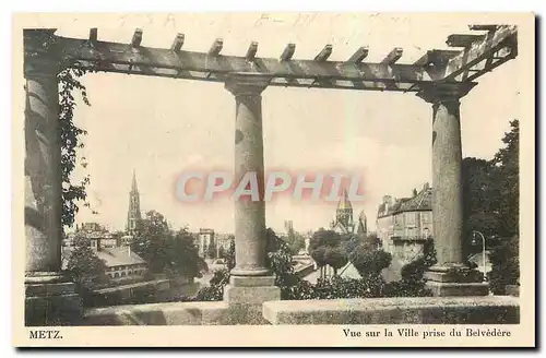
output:
[[[502,25],[497,28],[488,38],[473,43],[471,47],[466,48],[461,55],[455,56],[449,60],[446,73],[442,81],[450,81],[455,79],[459,74],[466,69],[474,67],[476,63],[492,56],[500,48],[505,47],[507,41],[513,44],[518,48],[518,27]],[[517,53],[517,51],[515,51]],[[512,56],[512,58],[515,56]]]

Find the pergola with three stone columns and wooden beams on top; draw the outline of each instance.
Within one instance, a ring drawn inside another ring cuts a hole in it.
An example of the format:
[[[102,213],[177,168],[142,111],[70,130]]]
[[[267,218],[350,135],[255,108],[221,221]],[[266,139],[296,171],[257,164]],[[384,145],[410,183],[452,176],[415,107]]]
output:
[[[225,83],[237,107],[235,180],[247,171],[263,174],[261,93],[268,86],[416,93],[434,108],[432,212],[438,264],[427,273],[428,285],[438,296],[486,294],[486,284],[462,263],[459,99],[476,85],[476,79],[518,55],[518,29],[510,25],[472,25],[470,29],[473,34],[450,35],[450,49],[428,50],[407,64],[399,62],[402,48],[393,48],[379,63],[365,62],[369,52],[366,46],[358,47],[346,61],[329,61],[331,45],[313,59],[295,59],[295,44],[286,45],[278,58],[260,58],[256,41],[244,56],[224,56],[221,38],[209,51],[197,52],[183,49],[183,34],[176,35],[170,48],[162,49],[141,46],[142,29],[136,29],[127,44],[99,40],[96,28],[86,39],[59,37],[50,28],[25,29],[27,301],[43,297],[44,291],[67,296],[72,289],[60,275],[57,74],[61,63],[110,73]],[[236,267],[225,299],[278,299],[278,289],[264,266],[265,204],[249,201],[235,205]]]

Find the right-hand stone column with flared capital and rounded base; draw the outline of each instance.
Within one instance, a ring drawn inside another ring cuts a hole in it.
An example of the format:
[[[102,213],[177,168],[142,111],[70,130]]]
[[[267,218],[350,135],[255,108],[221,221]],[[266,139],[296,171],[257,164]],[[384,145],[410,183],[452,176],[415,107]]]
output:
[[[473,84],[441,84],[418,96],[432,104],[432,216],[437,264],[425,273],[435,296],[487,295],[478,271],[463,264],[460,98]]]

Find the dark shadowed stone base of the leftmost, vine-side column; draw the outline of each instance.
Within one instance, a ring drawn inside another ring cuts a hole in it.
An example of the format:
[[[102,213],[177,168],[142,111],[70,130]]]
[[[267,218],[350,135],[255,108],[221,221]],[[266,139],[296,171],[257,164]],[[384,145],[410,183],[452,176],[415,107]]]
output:
[[[75,284],[58,273],[32,273],[25,277],[25,325],[76,325],[82,300]]]

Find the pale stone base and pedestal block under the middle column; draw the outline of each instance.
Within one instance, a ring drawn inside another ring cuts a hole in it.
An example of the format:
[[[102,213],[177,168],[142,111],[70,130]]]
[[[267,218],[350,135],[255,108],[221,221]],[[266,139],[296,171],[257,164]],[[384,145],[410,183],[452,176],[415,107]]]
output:
[[[281,300],[281,288],[274,286],[275,277],[229,277],[224,288],[228,305],[229,324],[270,324],[263,318],[263,302]]]

